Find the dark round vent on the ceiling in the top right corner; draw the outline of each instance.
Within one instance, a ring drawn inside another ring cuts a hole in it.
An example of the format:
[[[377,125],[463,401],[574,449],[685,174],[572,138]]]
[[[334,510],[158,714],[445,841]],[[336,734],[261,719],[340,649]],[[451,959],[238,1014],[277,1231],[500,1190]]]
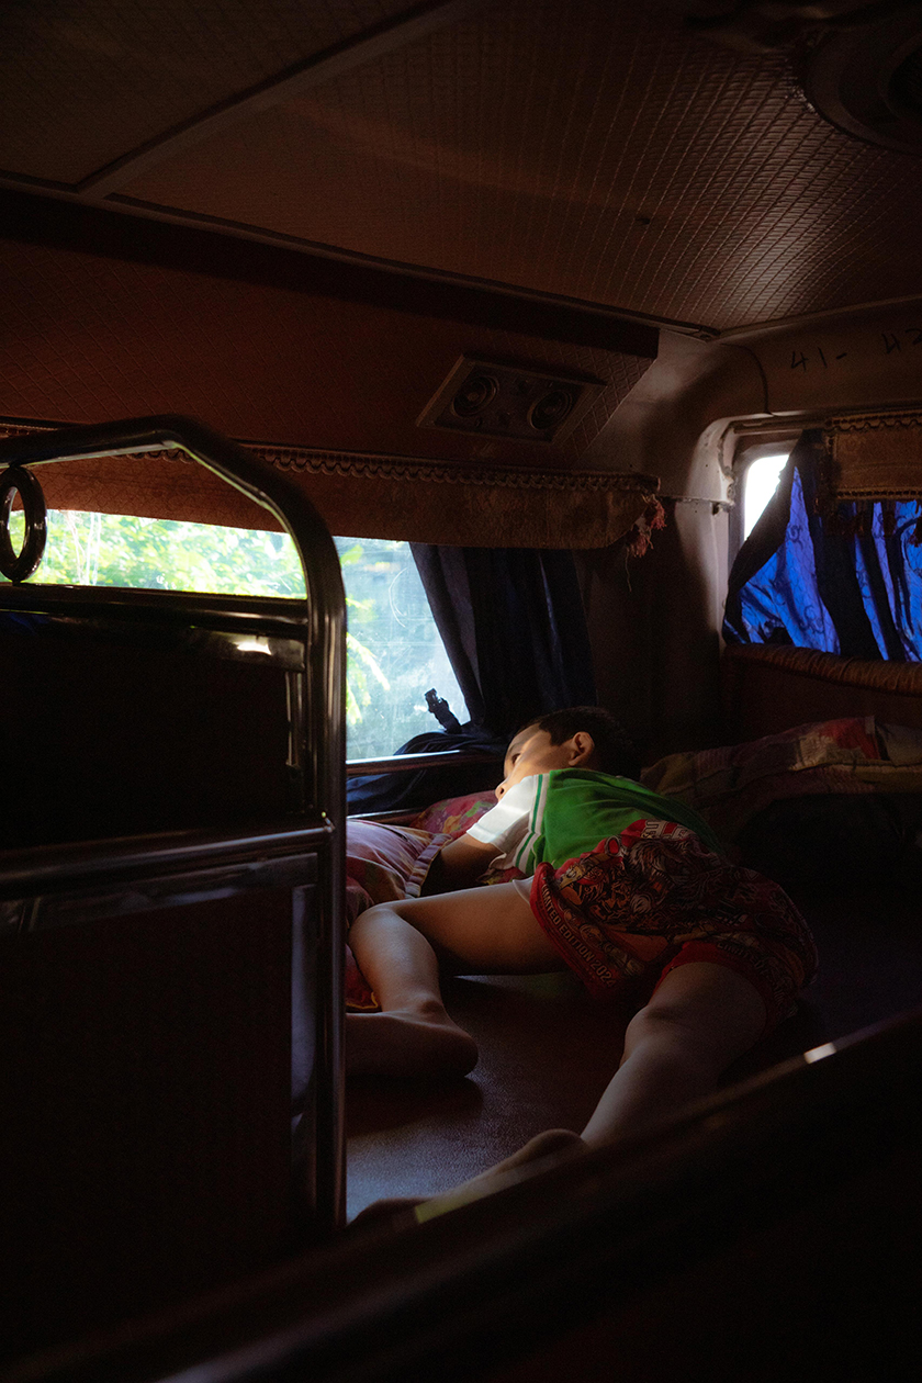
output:
[[[886,8],[890,8],[889,6]],[[922,154],[922,11],[890,18],[869,10],[822,39],[803,69],[810,104],[832,124],[871,144]]]

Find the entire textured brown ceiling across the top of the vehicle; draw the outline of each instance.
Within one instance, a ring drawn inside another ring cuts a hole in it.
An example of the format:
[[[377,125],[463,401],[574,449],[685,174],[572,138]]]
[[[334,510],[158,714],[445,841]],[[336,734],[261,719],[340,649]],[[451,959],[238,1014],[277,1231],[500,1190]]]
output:
[[[706,39],[681,3],[19,0],[0,170],[115,162],[82,195],[715,331],[922,293],[919,159],[822,120],[793,48]],[[344,39],[355,65],[293,95]],[[214,112],[272,79],[276,104]]]

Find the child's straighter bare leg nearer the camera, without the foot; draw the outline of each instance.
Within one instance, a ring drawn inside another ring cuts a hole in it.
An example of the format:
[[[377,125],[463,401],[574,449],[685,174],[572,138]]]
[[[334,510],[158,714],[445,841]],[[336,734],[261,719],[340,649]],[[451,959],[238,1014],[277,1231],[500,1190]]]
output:
[[[755,1046],[764,1022],[758,989],[728,967],[694,961],[670,971],[628,1025],[621,1065],[583,1129],[583,1142],[610,1142],[712,1094],[727,1066]]]

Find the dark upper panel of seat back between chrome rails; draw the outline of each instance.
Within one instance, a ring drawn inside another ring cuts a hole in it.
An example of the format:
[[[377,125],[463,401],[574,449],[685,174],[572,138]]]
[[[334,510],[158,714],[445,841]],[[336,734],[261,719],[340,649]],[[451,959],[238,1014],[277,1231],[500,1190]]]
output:
[[[203,656],[117,624],[18,625],[0,613],[7,848],[292,810],[285,672],[270,658]]]

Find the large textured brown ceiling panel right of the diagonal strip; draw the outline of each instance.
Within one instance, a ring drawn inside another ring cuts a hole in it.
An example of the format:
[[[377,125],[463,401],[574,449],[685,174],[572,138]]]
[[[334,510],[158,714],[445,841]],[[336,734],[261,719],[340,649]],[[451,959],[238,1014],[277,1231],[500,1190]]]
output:
[[[488,10],[122,192],[726,329],[922,290],[919,183],[821,120],[785,55],[574,0]]]

